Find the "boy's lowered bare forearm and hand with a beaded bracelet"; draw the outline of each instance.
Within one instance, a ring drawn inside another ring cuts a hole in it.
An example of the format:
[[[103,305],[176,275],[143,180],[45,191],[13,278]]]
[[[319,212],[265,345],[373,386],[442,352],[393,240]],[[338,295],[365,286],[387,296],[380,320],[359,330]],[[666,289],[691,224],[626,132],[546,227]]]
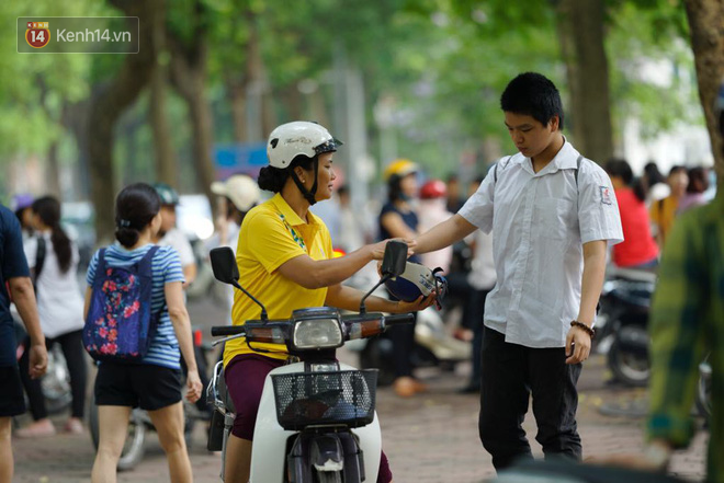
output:
[[[578,322],[588,326],[593,324],[596,306],[603,288],[606,274],[606,240],[596,240],[584,244],[584,275],[580,289],[580,308]],[[575,343],[572,354],[570,344]],[[591,348],[590,336],[580,327],[570,327],[566,337],[566,354],[570,356],[567,364],[578,364],[588,358]]]

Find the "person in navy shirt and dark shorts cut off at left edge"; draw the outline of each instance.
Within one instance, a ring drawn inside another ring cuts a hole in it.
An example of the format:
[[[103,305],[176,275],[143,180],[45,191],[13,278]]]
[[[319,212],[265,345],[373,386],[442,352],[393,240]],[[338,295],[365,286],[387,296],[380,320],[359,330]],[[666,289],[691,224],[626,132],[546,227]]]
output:
[[[31,338],[29,372],[32,378],[38,378],[45,373],[48,356],[23,253],[23,235],[15,215],[0,205],[0,483],[10,483],[14,470],[11,417],[25,412],[15,358],[15,331],[10,315],[11,295]]]

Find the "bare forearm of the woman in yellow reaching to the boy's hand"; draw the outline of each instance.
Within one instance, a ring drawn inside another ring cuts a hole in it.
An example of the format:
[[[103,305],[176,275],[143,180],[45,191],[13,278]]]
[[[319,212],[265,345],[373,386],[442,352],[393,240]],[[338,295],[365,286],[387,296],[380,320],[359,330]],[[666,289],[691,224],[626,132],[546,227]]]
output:
[[[387,241],[362,246],[339,258],[313,260],[307,255],[284,262],[279,272],[304,288],[315,289],[341,284],[373,260],[382,260]]]

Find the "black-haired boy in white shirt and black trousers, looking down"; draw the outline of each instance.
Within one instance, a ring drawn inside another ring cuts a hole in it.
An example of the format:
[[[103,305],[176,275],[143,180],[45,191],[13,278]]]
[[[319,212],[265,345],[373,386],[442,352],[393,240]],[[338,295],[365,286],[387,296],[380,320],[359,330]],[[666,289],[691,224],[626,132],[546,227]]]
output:
[[[505,157],[416,253],[493,231],[497,281],[485,304],[479,434],[496,470],[531,459],[521,427],[533,395],[546,458],[581,458],[576,382],[588,358],[607,243],[622,241],[611,180],[563,136],[558,90],[540,73],[500,99],[519,153]]]

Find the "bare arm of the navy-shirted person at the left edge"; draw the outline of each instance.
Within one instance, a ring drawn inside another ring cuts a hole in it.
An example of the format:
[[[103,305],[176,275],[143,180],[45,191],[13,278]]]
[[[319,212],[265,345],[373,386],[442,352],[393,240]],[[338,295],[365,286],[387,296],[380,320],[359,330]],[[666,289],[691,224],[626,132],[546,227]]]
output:
[[[18,313],[20,313],[31,338],[30,376],[35,379],[45,373],[48,356],[45,348],[45,335],[41,329],[41,319],[37,315],[33,283],[30,277],[13,277],[8,280],[8,284],[15,307],[18,307]]]

